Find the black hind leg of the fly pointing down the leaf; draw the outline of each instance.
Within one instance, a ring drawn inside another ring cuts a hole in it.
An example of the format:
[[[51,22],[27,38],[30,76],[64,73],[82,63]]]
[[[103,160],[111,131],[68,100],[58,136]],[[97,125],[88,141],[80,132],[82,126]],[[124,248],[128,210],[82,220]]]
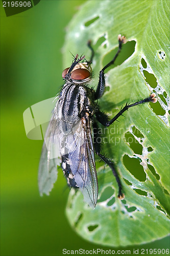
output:
[[[99,130],[98,130],[98,124],[94,121],[93,122],[93,138],[94,138],[94,150],[96,155],[98,155],[106,164],[109,165],[109,167],[112,170],[113,175],[116,178],[117,184],[118,184],[118,198],[122,199],[124,198],[124,194],[122,193],[122,184],[120,182],[120,179],[118,177],[118,174],[116,172],[114,163],[112,161],[110,161],[108,158],[106,158],[105,156],[103,156],[101,154],[101,137],[99,135]]]

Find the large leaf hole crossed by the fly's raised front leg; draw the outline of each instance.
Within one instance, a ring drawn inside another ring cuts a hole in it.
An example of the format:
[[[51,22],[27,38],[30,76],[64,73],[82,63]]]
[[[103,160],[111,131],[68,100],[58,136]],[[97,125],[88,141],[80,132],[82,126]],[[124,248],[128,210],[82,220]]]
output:
[[[117,42],[118,44],[118,42]],[[107,73],[110,69],[113,69],[113,67],[116,67],[118,65],[121,65],[127,58],[129,58],[135,51],[135,44],[136,41],[129,41],[127,42],[123,48],[122,51],[120,52],[120,54],[118,55],[118,58],[115,60],[114,62],[114,66],[110,66],[109,68],[107,68],[107,70],[105,71],[105,73]],[[109,63],[113,57],[115,56],[116,52],[118,50],[118,47],[116,47],[114,50],[112,50],[111,52],[109,52],[103,59],[103,67],[105,65],[107,65],[107,63]]]

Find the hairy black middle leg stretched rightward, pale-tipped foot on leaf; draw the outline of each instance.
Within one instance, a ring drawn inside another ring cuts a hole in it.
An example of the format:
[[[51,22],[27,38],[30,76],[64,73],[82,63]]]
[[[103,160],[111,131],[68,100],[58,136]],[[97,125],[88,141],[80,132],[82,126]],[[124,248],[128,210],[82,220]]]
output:
[[[112,124],[114,121],[117,120],[117,118],[121,115],[123,115],[123,113],[128,110],[129,108],[131,108],[132,106],[136,106],[136,105],[139,105],[139,104],[142,104],[142,103],[145,103],[145,102],[153,102],[155,103],[157,101],[157,99],[155,98],[156,97],[156,94],[155,93],[152,93],[150,95],[150,97],[148,98],[145,98],[145,99],[142,99],[140,101],[136,101],[135,103],[133,104],[128,104],[126,103],[126,105],[124,106],[123,109],[121,109],[117,115],[115,115],[110,121],[108,120],[108,117],[105,113],[101,112],[101,111],[96,111],[95,115],[96,115],[96,118],[98,119],[98,121],[100,123],[102,123],[104,126],[109,126],[110,124]]]

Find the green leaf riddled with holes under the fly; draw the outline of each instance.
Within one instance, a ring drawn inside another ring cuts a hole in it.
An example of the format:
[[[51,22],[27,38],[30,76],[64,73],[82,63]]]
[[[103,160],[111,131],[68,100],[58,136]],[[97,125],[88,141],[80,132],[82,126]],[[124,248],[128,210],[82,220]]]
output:
[[[114,160],[125,199],[117,199],[117,184],[109,167],[98,163],[99,200],[93,210],[80,191],[71,189],[66,214],[83,238],[109,246],[142,244],[169,233],[169,2],[88,1],[67,27],[63,49],[65,68],[72,56],[90,57],[95,49],[94,78],[127,38],[115,66],[106,73],[101,109],[114,116],[126,102],[155,92],[158,102],[135,106],[103,129],[103,153]],[[96,157],[96,160],[97,157]]]

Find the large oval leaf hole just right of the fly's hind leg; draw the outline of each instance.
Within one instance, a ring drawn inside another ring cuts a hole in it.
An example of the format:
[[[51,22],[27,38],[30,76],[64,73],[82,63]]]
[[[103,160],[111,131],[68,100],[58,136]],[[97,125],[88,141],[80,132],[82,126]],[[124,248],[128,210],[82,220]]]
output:
[[[125,167],[129,170],[129,172],[139,181],[146,180],[146,174],[143,170],[142,165],[140,165],[140,161],[137,158],[131,158],[128,155],[123,156],[123,162]]]

